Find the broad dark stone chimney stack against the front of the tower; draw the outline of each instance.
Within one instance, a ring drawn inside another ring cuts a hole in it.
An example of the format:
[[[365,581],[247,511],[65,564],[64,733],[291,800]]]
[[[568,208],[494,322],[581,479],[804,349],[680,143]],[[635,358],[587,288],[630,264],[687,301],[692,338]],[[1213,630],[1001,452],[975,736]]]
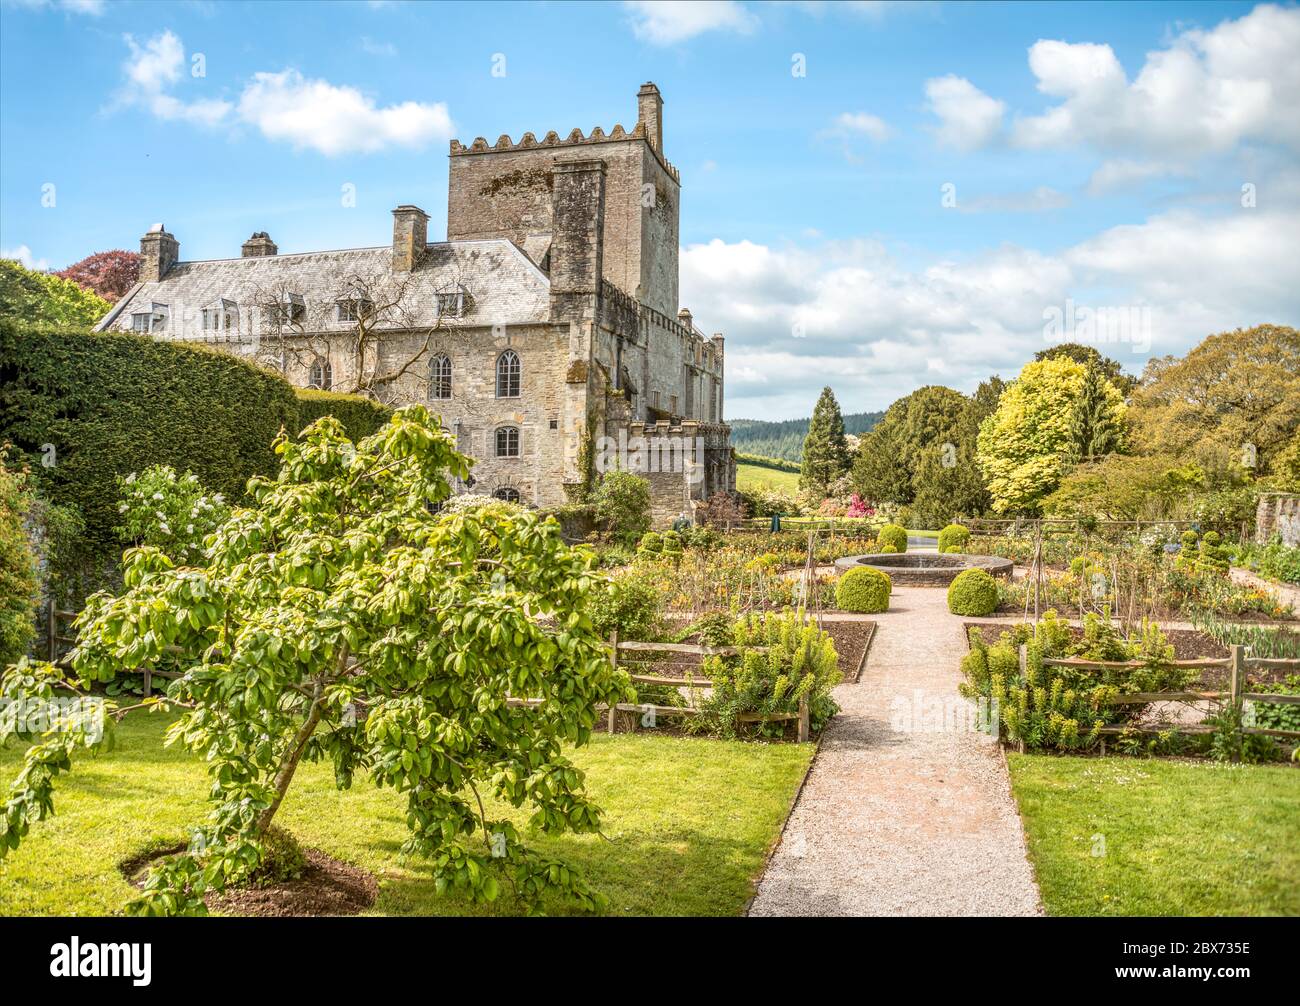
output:
[[[593,320],[604,269],[604,161],[556,161],[551,190],[551,317]]]

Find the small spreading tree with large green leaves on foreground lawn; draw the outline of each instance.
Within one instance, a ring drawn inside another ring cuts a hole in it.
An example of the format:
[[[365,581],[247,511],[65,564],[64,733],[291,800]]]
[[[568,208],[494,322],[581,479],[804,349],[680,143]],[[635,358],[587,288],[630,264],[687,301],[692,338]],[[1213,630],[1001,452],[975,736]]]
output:
[[[332,762],[341,788],[361,772],[404,794],[404,851],[429,859],[439,892],[491,901],[504,881],[528,906],[547,892],[598,906],[481,799],[532,805],[542,833],[599,828],[563,755],[589,740],[597,703],[630,695],[588,613],[594,556],[532,512],[434,513],[469,461],[421,406],[358,445],[326,417],[276,451],[278,476],[250,481],[204,564],[127,551],[125,593],[95,595],[79,620],[75,680],[23,660],[0,681],[0,697],[39,702],[164,655],[187,667],[162,701],[183,710],[169,741],[208,762],[213,810],[131,911],[202,914],[207,890],[256,870],[303,759]],[[42,736],[0,719],[0,741],[34,741],[0,855],[52,812],[53,777],[92,725]]]

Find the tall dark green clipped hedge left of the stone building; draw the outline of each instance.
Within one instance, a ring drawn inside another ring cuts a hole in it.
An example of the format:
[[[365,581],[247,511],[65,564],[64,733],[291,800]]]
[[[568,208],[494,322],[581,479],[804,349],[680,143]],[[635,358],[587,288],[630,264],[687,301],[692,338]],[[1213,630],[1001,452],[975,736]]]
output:
[[[276,471],[281,426],[298,433],[328,412],[361,435],[386,415],[350,395],[299,396],[218,350],[0,321],[0,441],[30,458],[44,498],[81,512],[96,551],[120,547],[117,476],[169,464],[237,502],[251,476]],[[53,445],[52,467],[43,445]]]

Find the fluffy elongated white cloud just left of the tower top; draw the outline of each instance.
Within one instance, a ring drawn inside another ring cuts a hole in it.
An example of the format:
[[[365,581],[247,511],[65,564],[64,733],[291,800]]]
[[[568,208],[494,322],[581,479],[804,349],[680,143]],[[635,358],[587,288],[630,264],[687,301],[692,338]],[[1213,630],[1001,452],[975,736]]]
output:
[[[268,139],[326,156],[422,147],[451,136],[451,116],[441,101],[381,108],[355,87],[307,79],[298,70],[254,74],[239,97],[239,118]]]

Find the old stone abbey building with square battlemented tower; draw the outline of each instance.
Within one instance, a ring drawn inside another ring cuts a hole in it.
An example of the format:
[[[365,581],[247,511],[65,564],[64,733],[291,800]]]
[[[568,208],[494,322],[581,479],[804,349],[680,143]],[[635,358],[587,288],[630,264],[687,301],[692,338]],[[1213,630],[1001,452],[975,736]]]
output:
[[[462,491],[550,507],[623,464],[650,478],[663,524],[736,485],[723,337],[677,303],[680,196],[647,83],[632,130],[451,140],[445,242],[400,205],[391,246],[280,255],[259,231],[239,257],[183,261],[155,225],[99,329],[424,402],[477,461]]]

